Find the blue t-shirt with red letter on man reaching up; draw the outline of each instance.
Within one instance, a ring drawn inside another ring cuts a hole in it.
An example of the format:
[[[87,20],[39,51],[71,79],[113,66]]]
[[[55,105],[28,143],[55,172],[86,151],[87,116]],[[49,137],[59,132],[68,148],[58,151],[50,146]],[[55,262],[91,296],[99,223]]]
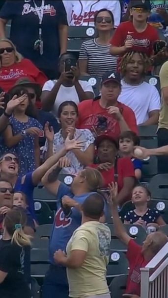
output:
[[[74,196],[70,190],[70,187],[66,186],[63,183],[60,183],[56,195],[57,210],[49,245],[50,262],[52,264],[55,265],[55,261],[53,259],[55,251],[58,249],[62,249],[65,251],[69,239],[71,238],[73,232],[80,226],[82,219],[80,211],[78,211],[76,208],[71,208],[71,215],[68,218],[65,218],[64,212],[60,205],[61,198],[63,196],[69,196],[70,198],[75,199],[78,203],[82,204],[88,196],[94,193],[95,192]]]

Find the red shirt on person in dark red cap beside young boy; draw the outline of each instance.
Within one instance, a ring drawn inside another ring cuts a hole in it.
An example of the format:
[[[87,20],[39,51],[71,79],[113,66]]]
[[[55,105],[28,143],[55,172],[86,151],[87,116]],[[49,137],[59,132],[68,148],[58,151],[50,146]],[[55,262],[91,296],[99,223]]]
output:
[[[91,164],[89,167],[96,169],[98,164]],[[104,179],[104,188],[108,187],[108,184],[114,182],[114,167],[111,169],[101,171]],[[125,177],[135,177],[134,167],[131,159],[129,157],[120,157],[117,160],[117,174],[118,174],[118,191],[123,188],[123,179]]]

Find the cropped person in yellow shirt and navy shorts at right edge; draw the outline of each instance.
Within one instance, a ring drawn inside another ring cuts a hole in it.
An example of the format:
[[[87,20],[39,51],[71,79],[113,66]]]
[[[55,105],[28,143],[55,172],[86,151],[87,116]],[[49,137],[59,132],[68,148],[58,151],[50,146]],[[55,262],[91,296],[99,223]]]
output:
[[[158,147],[162,147],[168,145],[168,61],[162,65],[159,76],[162,106],[158,124]],[[168,156],[158,157],[158,173],[168,173]]]

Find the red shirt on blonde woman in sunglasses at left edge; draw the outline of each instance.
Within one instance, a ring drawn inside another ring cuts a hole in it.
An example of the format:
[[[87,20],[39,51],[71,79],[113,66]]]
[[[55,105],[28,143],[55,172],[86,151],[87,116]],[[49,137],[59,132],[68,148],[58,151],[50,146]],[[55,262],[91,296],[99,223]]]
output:
[[[8,92],[21,77],[28,77],[30,81],[39,83],[41,86],[48,80],[29,59],[22,59],[21,62],[14,63],[8,67],[0,69],[0,87]]]

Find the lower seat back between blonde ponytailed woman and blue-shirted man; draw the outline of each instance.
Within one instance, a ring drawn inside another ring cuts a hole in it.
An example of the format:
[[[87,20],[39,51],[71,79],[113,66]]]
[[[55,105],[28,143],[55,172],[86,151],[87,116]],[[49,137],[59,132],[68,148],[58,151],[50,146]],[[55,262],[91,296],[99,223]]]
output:
[[[30,263],[31,276],[44,278],[50,266],[48,249],[31,249]]]

